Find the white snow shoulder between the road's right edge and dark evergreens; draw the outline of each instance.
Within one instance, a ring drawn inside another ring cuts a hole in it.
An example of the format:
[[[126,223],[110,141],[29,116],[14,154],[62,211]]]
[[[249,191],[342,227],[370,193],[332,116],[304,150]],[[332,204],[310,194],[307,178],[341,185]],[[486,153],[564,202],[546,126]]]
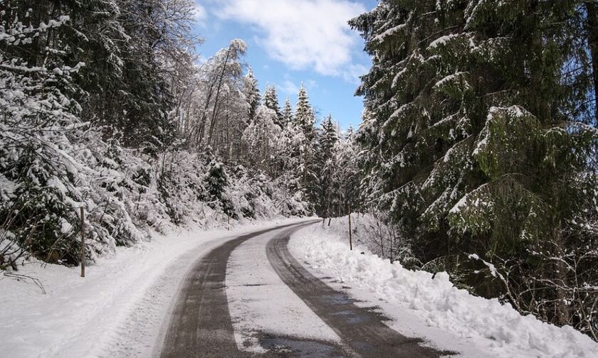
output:
[[[351,286],[355,298],[379,305],[392,319],[388,324],[404,335],[424,337],[466,357],[479,352],[505,358],[598,357],[598,343],[572,327],[550,325],[496,299],[471,295],[454,287],[446,273],[410,271],[362,245],[350,251],[345,220],[295,233],[291,253],[316,276],[334,277],[331,286]]]

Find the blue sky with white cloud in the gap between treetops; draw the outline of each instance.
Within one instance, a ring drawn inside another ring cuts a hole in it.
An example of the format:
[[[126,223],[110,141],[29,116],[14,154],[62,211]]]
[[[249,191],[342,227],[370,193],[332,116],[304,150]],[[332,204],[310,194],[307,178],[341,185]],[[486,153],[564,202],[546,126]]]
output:
[[[363,40],[346,22],[376,6],[376,0],[197,0],[199,52],[214,55],[230,40],[248,45],[246,61],[263,90],[278,87],[278,99],[293,107],[301,82],[318,119],[327,114],[346,129],[360,124],[358,76],[369,69]]]

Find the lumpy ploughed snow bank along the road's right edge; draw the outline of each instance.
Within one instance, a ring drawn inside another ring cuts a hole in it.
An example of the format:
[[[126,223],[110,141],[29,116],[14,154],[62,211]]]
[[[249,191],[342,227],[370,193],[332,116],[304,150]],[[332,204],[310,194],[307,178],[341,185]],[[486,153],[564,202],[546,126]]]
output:
[[[456,288],[446,272],[404,268],[366,246],[375,237],[367,216],[354,219],[354,250],[349,249],[347,217],[332,219],[293,237],[293,250],[313,268],[345,284],[387,300],[392,310],[409,310],[426,325],[471,339],[499,357],[598,357],[598,344],[570,326],[557,327],[520,315],[511,305]],[[390,315],[392,316],[392,315]]]

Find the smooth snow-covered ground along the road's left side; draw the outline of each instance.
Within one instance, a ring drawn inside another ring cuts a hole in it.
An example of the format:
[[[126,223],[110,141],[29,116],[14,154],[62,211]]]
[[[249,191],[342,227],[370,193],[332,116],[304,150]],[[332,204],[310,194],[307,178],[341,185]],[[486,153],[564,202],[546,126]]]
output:
[[[78,267],[21,266],[17,273],[38,278],[46,294],[31,281],[0,274],[0,356],[150,357],[196,259],[236,234],[298,221],[154,234],[151,242],[98,259],[85,278]]]

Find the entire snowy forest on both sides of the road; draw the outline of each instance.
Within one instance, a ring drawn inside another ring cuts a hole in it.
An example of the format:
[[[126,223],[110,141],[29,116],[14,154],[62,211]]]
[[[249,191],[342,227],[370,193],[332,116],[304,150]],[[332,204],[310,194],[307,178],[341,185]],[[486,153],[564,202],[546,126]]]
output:
[[[380,0],[342,129],[201,55],[193,0],[0,0],[0,270],[169,225],[377,218],[372,250],[598,340],[598,2]]]

